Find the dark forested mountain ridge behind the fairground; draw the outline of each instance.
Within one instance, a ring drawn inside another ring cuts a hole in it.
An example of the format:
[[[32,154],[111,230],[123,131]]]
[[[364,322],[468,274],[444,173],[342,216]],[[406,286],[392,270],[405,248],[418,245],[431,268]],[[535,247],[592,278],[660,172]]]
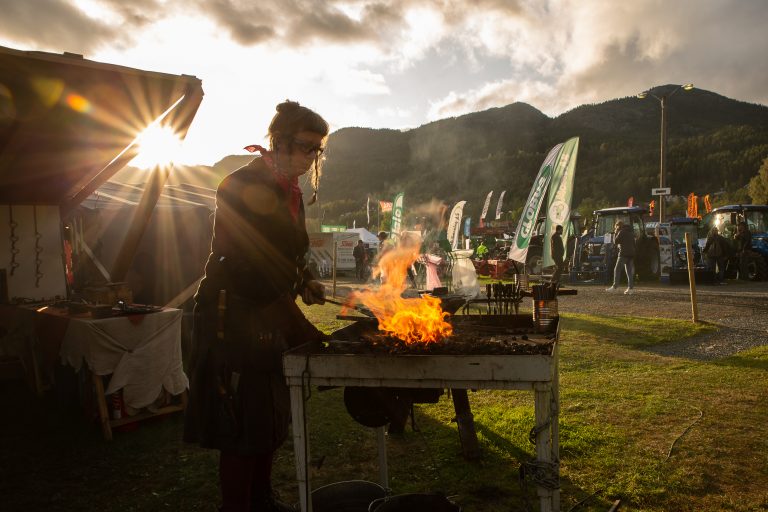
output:
[[[522,207],[549,149],[570,137],[580,138],[574,205],[617,206],[630,196],[647,203],[659,186],[661,109],[653,95],[678,88],[659,86],[645,99],[582,105],[554,118],[513,103],[407,131],[342,128],[328,139],[320,201],[308,207],[307,216],[362,226],[369,194],[391,201],[404,191],[406,214],[433,199],[449,207],[467,200],[465,215],[477,219],[493,190],[492,218],[502,190],[505,212]],[[666,115],[666,185],[673,194],[736,191],[768,157],[766,106],[706,90],[677,90]],[[215,188],[252,158],[230,155],[212,167],[180,167],[169,182]]]

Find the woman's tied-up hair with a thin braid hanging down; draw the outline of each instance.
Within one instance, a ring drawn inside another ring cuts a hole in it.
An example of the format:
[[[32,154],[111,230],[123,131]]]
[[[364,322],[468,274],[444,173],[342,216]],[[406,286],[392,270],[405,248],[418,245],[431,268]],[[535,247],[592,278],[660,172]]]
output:
[[[277,113],[269,123],[269,145],[273,151],[286,149],[292,150],[293,138],[300,132],[312,132],[321,135],[323,138],[328,136],[330,127],[315,111],[299,105],[296,101],[285,100],[275,108]],[[322,174],[322,161],[320,155],[315,156],[315,162],[312,164],[310,173],[310,183],[312,185],[312,199],[309,204],[317,200],[317,190],[320,188],[320,175]]]

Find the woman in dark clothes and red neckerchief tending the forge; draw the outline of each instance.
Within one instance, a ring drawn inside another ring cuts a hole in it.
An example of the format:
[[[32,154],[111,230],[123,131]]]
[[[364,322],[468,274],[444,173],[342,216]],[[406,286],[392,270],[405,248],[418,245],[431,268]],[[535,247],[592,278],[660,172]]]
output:
[[[322,304],[304,255],[300,176],[317,192],[328,123],[296,102],[277,106],[270,150],[216,191],[211,254],[195,295],[195,349],[184,439],[220,450],[222,512],[292,510],[271,487],[290,422],[282,353],[322,338],[296,305]],[[313,196],[314,200],[314,196]]]

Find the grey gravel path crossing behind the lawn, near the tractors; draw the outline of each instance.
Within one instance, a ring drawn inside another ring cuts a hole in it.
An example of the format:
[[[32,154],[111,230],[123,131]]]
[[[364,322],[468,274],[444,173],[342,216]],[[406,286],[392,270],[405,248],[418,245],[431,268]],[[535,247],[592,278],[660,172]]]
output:
[[[326,282],[330,291],[331,283]],[[340,281],[338,294],[360,288],[354,281]],[[623,289],[609,293],[605,286],[574,285],[575,296],[560,298],[563,313],[621,315],[690,320],[691,302],[687,286],[638,285],[635,294]],[[649,347],[651,352],[711,360],[731,356],[742,350],[768,345],[768,282],[729,281],[725,286],[700,286],[696,292],[699,320],[721,326],[714,333]]]

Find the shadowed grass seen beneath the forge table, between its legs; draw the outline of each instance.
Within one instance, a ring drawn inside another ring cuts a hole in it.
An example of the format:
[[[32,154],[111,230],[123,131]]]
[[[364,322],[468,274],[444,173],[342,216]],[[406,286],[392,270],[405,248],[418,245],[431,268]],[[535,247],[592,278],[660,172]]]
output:
[[[322,400],[319,398],[322,396]],[[375,430],[354,423],[343,409],[341,392],[336,396],[322,393],[313,396],[310,422],[311,453],[314,464],[323,461],[322,467],[313,476],[313,488],[333,481],[351,478],[378,481],[376,465]],[[339,411],[347,417],[340,417]],[[318,416],[320,413],[320,417]],[[330,413],[334,421],[322,416]],[[416,427],[410,423],[405,433],[387,436],[387,458],[390,487],[396,494],[419,492],[442,492],[457,496],[454,501],[464,510],[485,512],[522,510],[527,501],[538,509],[535,486],[527,482],[525,494],[519,483],[519,467],[522,461],[534,458],[535,448],[527,440],[530,424],[512,426],[504,433],[478,421],[481,457],[468,461],[462,456],[461,442],[456,424],[450,418],[454,415],[451,400],[446,395],[438,404],[419,404],[416,407]],[[504,414],[495,418],[502,423],[519,422],[517,417],[508,420]],[[509,433],[507,433],[509,431]],[[570,496],[584,496],[587,493],[567,479],[561,485],[568,496],[562,501],[575,502]]]

